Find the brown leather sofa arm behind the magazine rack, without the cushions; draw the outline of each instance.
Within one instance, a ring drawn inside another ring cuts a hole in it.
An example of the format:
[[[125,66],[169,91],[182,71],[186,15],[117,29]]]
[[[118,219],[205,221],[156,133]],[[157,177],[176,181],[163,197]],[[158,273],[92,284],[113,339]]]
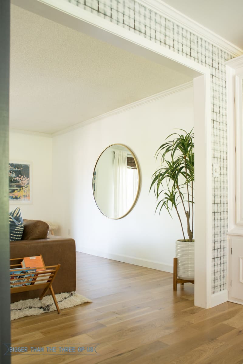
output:
[[[75,241],[68,238],[46,238],[40,240],[19,240],[10,242],[11,259],[39,256],[40,254],[42,254],[45,265],[57,265],[59,263],[61,265],[53,282],[54,292],[61,293],[75,291]]]

